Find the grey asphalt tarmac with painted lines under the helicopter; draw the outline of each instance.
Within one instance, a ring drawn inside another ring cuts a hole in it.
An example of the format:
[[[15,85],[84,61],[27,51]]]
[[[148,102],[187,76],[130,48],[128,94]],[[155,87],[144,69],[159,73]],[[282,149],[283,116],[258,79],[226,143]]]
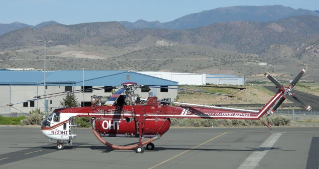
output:
[[[77,132],[73,145],[58,151],[40,128],[0,127],[0,169],[319,168],[319,128],[172,128],[142,154],[112,150],[91,129]]]

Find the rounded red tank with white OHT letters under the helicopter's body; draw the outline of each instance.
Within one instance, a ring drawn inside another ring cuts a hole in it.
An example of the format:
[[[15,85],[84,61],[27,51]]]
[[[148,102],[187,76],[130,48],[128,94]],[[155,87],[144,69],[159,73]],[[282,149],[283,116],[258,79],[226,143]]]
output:
[[[92,119],[92,127],[105,137],[139,137],[134,118],[97,118]],[[167,132],[170,127],[169,119],[147,118],[144,121],[143,136],[152,138]]]

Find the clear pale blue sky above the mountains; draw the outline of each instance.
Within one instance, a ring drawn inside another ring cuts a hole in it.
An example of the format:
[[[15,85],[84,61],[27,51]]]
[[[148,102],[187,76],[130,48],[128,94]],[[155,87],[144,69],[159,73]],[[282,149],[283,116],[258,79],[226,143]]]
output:
[[[319,10],[319,0],[0,0],[0,23],[36,25],[54,20],[77,24],[138,19],[167,22],[217,7],[275,4]]]

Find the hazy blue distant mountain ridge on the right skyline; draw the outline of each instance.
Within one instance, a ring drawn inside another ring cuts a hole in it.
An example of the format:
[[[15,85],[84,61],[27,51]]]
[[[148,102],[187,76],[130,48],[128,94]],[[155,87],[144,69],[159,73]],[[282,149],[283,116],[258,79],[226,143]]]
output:
[[[307,9],[294,9],[282,5],[270,6],[231,6],[204,10],[198,13],[188,14],[175,20],[160,23],[159,21],[148,22],[138,20],[134,23],[120,21],[123,25],[133,29],[140,28],[166,28],[188,29],[205,26],[217,22],[229,22],[238,20],[249,21],[272,21],[291,16],[313,15],[319,16],[319,12]]]

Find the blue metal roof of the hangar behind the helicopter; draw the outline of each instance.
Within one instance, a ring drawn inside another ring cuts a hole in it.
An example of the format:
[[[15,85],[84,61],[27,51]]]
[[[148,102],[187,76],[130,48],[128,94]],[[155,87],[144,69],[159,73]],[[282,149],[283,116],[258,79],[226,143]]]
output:
[[[0,85],[43,85],[43,71],[0,71]],[[125,82],[175,86],[178,82],[128,70],[59,70],[46,72],[48,86],[117,86]]]

